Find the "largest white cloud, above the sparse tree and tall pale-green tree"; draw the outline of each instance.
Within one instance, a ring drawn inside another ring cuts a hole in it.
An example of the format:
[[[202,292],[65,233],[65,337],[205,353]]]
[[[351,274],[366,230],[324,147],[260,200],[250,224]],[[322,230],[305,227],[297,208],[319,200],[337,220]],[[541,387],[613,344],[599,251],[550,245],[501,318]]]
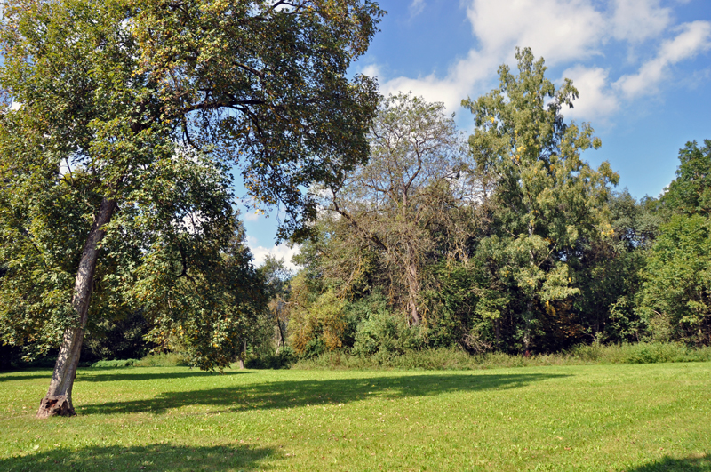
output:
[[[381,91],[413,92],[456,109],[462,99],[491,88],[497,68],[514,59],[515,46],[531,46],[547,63],[580,59],[597,53],[604,28],[603,15],[587,0],[473,0],[467,17],[480,49],[470,50],[444,77],[395,77],[383,82]],[[369,70],[379,72],[374,66]]]

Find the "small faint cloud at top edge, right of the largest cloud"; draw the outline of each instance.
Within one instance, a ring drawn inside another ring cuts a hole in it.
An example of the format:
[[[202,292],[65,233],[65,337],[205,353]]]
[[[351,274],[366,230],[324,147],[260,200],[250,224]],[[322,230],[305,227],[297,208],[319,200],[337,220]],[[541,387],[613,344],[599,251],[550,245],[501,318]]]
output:
[[[671,10],[659,0],[614,0],[612,35],[619,40],[641,42],[658,36],[671,23]]]

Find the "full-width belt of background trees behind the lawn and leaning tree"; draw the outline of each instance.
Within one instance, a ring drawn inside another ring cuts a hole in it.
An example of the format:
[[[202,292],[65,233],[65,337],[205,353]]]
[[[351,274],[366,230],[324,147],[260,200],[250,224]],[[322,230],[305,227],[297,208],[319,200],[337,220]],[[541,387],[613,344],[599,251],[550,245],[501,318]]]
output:
[[[498,89],[463,101],[475,123],[468,137],[442,104],[409,94],[380,100],[369,160],[311,188],[319,210],[296,274],[273,258],[255,270],[231,214],[219,238],[180,229],[184,220],[164,225],[169,237],[157,245],[155,231],[108,237],[93,287],[100,316],[84,326],[82,361],[173,352],[212,369],[327,353],[377,363],[425,349],[529,356],[590,344],[711,344],[711,140],[687,143],[666,192],[636,201],[614,190],[609,164],[583,160],[601,143],[589,124],[564,120],[578,96],[571,82],[556,88],[528,49],[517,60],[517,73],[499,69]],[[172,204],[190,195],[172,187]],[[46,196],[52,208],[64,201],[55,193]],[[27,227],[24,200],[3,195],[0,220]],[[188,204],[220,218],[210,201]],[[74,241],[90,220],[65,213],[76,228],[36,225],[36,233]],[[12,237],[0,248],[0,368],[47,353],[53,363],[69,299],[46,294],[71,292],[80,252],[29,247],[20,229],[6,229]],[[146,249],[154,246],[162,249]],[[48,313],[60,320],[52,329]]]

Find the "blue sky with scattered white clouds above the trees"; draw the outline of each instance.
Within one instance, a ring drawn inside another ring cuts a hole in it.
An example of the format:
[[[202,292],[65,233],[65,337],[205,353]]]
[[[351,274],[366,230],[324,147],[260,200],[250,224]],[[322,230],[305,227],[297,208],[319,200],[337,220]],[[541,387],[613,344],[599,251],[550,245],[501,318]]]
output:
[[[459,129],[473,130],[462,99],[515,70],[515,48],[543,57],[556,85],[579,90],[566,121],[587,122],[618,190],[659,196],[675,178],[678,151],[711,139],[711,0],[382,0],[387,15],[351,70],[378,78],[383,95],[443,101]],[[239,193],[239,188],[237,192]],[[289,264],[298,248],[275,245],[274,212],[243,212],[257,265],[271,253]],[[294,268],[294,266],[291,266]]]

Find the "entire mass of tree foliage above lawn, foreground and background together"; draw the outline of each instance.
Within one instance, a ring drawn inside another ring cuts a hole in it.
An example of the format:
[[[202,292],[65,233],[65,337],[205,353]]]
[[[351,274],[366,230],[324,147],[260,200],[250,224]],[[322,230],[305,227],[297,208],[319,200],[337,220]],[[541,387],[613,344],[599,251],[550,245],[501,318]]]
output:
[[[711,343],[711,141],[681,149],[659,198],[613,191],[610,165],[582,157],[593,128],[565,120],[578,91],[529,49],[462,101],[465,140],[443,104],[346,78],[381,14],[369,1],[4,14],[6,358],[172,350],[213,369]],[[284,210],[297,274],[252,267],[235,168]]]

